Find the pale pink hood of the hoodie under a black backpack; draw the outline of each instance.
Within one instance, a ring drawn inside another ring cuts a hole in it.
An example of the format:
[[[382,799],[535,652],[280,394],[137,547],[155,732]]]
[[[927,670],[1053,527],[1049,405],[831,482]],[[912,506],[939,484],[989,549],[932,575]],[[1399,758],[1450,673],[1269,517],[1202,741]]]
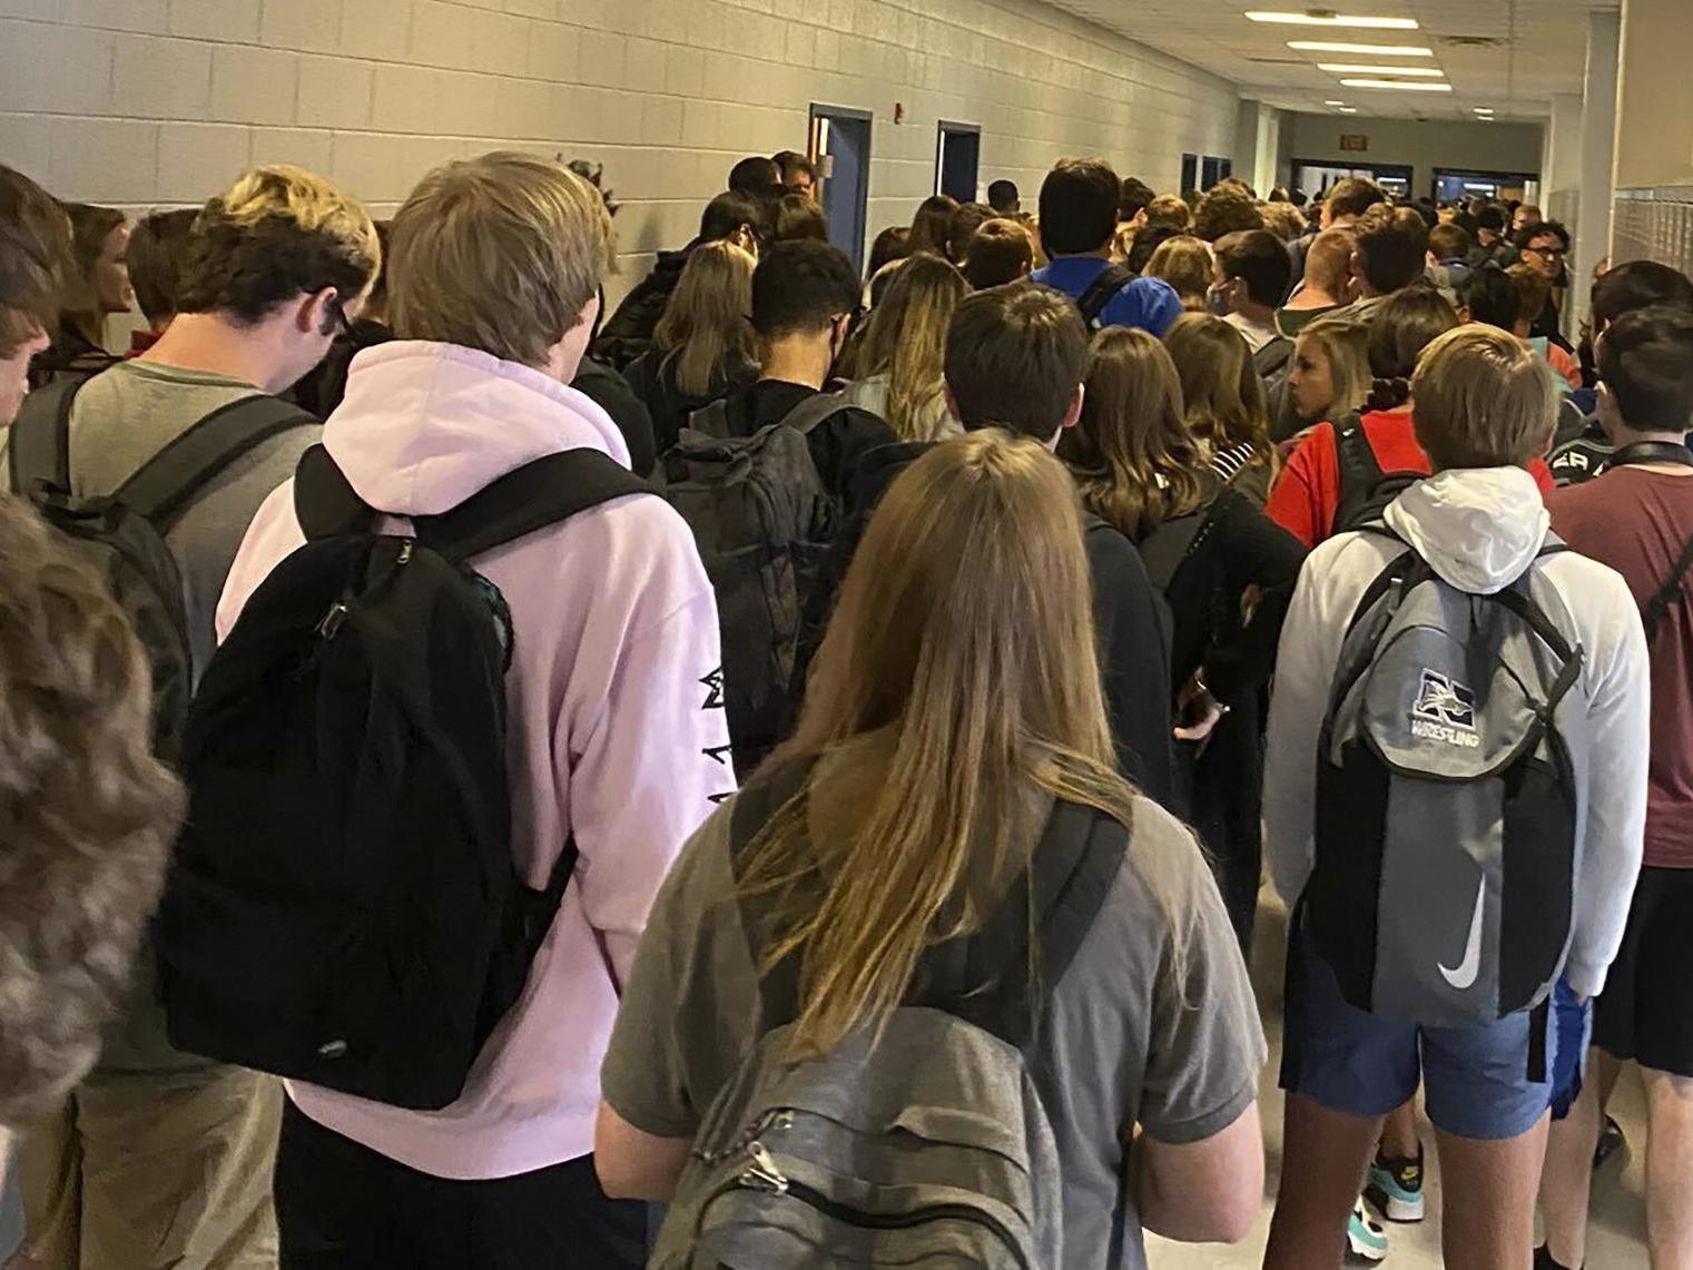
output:
[[[394,340],[352,359],[323,447],[378,511],[433,516],[527,462],[630,454],[611,417],[540,371],[457,344]]]

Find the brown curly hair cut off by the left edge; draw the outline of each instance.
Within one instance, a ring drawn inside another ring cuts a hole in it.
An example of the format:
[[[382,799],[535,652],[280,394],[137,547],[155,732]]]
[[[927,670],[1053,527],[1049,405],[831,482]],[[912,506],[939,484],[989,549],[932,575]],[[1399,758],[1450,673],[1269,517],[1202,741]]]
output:
[[[183,816],[122,610],[0,496],[0,1124],[81,1080]]]

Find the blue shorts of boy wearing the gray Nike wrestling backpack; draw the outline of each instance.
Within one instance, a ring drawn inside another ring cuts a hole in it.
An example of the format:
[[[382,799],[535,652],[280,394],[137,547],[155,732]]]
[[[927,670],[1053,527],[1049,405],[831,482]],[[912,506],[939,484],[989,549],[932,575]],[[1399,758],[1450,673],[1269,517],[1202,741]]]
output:
[[[1329,964],[1300,945],[1304,940],[1295,940],[1288,948],[1288,957],[1304,955],[1305,964],[1299,1002],[1292,994],[1288,999],[1283,1089],[1329,1111],[1373,1119],[1409,1102],[1420,1080],[1434,1128],[1480,1141],[1517,1138],[1546,1114],[1558,1058],[1566,1057],[1558,1028],[1547,1028],[1547,1079],[1530,1080],[1529,1014],[1485,1028],[1422,1028],[1376,1018],[1349,1004]]]

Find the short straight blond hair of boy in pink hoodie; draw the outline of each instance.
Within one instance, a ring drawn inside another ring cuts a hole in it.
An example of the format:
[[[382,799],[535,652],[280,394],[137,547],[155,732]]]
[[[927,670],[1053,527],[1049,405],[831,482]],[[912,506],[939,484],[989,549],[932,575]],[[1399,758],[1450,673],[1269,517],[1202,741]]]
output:
[[[496,151],[418,181],[394,213],[389,252],[400,339],[540,366],[611,271],[611,217],[562,163]]]

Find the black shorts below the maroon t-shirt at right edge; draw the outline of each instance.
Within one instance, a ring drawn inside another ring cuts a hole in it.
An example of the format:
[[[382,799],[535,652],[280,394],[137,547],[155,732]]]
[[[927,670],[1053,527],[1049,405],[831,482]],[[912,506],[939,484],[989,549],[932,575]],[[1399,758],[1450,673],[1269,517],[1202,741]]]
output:
[[[1693,869],[1641,869],[1622,948],[1593,1019],[1617,1058],[1693,1077]]]

